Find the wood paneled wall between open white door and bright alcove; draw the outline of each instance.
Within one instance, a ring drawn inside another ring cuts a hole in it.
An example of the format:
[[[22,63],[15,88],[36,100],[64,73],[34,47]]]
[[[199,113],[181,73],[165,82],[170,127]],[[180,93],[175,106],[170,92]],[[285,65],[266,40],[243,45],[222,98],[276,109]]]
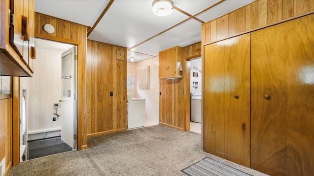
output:
[[[125,53],[124,61],[116,52]],[[87,136],[127,130],[127,48],[87,40]],[[110,92],[113,96],[110,96]]]

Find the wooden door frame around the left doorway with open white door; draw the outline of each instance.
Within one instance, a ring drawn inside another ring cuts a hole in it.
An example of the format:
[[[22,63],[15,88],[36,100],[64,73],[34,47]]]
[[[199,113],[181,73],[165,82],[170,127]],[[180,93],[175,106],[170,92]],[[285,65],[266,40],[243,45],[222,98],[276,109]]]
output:
[[[74,40],[68,40],[68,39],[63,39],[59,37],[54,37],[54,36],[47,36],[47,35],[41,35],[35,33],[35,38],[39,39],[45,39],[53,42],[60,42],[60,43],[65,43],[65,44],[72,44],[74,46],[77,46],[77,52],[78,52],[78,65],[81,65],[82,63],[82,57],[83,57],[83,44],[82,42],[79,41],[74,41]],[[81,79],[81,72],[83,70],[77,69],[77,74],[78,74],[78,80]],[[12,163],[13,166],[17,165],[20,163],[20,78],[19,77],[13,77],[13,95],[12,95]],[[83,97],[80,97],[79,95],[82,94],[82,88],[78,86],[78,96],[77,96],[77,101],[78,101],[78,115],[77,115],[77,150],[82,150],[82,149],[87,149],[87,145],[82,146],[81,141],[86,139],[86,136],[82,136],[82,130],[85,130],[86,128],[83,128],[84,124],[83,123],[83,115],[82,112],[80,113],[80,101],[83,101]]]

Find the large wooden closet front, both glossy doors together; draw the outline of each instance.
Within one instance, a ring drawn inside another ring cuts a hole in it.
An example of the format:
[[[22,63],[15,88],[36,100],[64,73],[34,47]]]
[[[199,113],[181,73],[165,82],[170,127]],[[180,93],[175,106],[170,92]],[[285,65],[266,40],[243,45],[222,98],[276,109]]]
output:
[[[272,176],[314,175],[313,22],[311,14],[205,46],[206,152]]]

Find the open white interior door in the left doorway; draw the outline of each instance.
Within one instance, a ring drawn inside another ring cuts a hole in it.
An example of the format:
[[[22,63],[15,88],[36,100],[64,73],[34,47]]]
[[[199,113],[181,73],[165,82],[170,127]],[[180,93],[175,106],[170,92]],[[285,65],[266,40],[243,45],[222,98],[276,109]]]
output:
[[[61,55],[61,140],[77,147],[77,55],[76,47],[72,47]]]

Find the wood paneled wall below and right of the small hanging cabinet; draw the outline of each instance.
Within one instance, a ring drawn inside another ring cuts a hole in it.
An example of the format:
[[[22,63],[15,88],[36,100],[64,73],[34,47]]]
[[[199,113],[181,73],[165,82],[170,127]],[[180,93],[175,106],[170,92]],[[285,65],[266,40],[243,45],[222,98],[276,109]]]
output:
[[[190,130],[190,73],[186,59],[201,56],[201,42],[183,47],[183,78],[160,79],[159,124]]]

